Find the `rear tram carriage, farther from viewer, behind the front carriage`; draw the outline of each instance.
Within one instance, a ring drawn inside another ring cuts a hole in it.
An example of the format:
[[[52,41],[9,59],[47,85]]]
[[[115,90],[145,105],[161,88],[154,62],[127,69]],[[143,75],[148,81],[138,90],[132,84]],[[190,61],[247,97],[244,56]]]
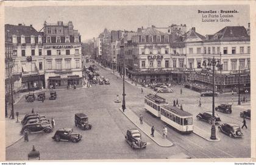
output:
[[[168,105],[168,102],[165,102],[163,97],[157,96],[156,94],[148,94],[144,97],[144,105],[145,110],[160,118],[160,105]]]

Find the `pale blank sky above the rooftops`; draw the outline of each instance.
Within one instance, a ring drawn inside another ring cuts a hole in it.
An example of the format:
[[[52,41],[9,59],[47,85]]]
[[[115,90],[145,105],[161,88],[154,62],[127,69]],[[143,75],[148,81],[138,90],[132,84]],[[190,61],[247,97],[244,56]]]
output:
[[[198,10],[237,10],[230,23],[202,22]],[[43,23],[72,21],[82,41],[98,37],[105,28],[109,30],[133,30],[138,27],[168,27],[171,24],[186,24],[187,30],[196,27],[202,35],[213,34],[225,26],[244,26],[249,23],[249,5],[80,5],[80,6],[32,6],[5,7],[5,24],[19,23],[36,30]]]

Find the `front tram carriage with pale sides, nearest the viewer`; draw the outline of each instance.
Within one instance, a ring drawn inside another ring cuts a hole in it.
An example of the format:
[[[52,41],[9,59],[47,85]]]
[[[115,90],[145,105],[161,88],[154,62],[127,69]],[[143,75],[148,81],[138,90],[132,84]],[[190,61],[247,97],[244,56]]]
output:
[[[160,106],[160,119],[181,133],[193,132],[193,115],[171,105]]]

